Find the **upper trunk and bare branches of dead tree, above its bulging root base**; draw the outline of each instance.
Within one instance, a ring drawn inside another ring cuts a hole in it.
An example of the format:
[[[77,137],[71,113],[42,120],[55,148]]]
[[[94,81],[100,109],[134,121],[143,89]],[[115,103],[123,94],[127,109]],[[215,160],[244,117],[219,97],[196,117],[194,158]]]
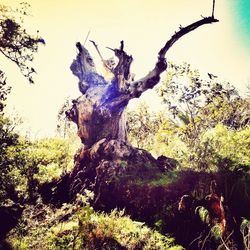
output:
[[[131,79],[130,66],[133,58],[124,51],[123,41],[119,49],[112,49],[118,58],[118,64],[112,69],[111,82],[107,82],[96,72],[91,55],[78,42],[78,54],[70,68],[79,79],[79,90],[82,95],[73,101],[72,109],[67,112],[67,116],[77,124],[78,135],[85,148],[91,147],[103,138],[126,142],[124,110],[128,102],[138,98],[160,81],[161,73],[167,69],[166,53],[176,41],[202,25],[215,22],[218,20],[212,15],[180,28],[160,49],[155,67],[137,81]]]

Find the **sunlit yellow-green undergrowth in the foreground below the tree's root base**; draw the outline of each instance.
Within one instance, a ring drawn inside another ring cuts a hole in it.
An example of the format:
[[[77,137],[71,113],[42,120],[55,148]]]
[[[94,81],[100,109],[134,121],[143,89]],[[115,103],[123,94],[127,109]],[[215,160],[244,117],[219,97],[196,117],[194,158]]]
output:
[[[183,249],[175,246],[173,238],[132,221],[124,211],[94,212],[91,196],[86,191],[77,203],[60,209],[30,207],[9,237],[10,243],[14,249]],[[39,220],[38,214],[47,219]]]

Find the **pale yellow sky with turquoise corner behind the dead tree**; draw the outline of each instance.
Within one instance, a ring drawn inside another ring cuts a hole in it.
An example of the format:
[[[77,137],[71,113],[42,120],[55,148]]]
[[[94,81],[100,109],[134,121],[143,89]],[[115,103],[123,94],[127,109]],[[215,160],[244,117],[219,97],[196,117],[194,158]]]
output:
[[[94,40],[105,58],[113,56],[105,47],[116,48],[121,40],[133,55],[131,71],[136,79],[154,66],[157,53],[178,30],[202,16],[209,16],[212,0],[26,0],[30,13],[25,26],[45,39],[35,55],[35,84],[30,85],[18,68],[0,56],[12,92],[8,112],[23,117],[22,129],[33,137],[51,136],[57,113],[67,97],[77,98],[78,79],[69,69],[76,56],[75,43]],[[16,5],[16,0],[0,0]],[[205,25],[180,39],[167,53],[167,60],[188,62],[201,72],[229,81],[241,91],[250,82],[250,1],[217,0],[219,23]],[[86,47],[100,64],[90,42]],[[101,69],[101,68],[100,68]],[[159,106],[152,93],[145,97]]]

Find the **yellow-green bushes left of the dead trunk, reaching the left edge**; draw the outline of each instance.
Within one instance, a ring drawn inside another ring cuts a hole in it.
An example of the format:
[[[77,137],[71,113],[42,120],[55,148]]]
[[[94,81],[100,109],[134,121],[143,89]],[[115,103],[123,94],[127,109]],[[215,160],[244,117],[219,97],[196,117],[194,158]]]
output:
[[[31,142],[14,128],[8,118],[0,119],[0,202],[34,202],[41,183],[59,178],[72,167],[75,148],[65,139]]]

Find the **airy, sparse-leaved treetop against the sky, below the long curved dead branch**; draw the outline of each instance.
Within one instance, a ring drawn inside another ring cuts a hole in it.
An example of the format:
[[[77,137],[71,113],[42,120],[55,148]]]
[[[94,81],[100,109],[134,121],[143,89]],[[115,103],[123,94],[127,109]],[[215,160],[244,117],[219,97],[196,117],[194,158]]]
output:
[[[189,64],[170,63],[166,80],[157,89],[175,123],[185,125],[185,139],[190,144],[218,123],[233,129],[249,123],[249,100],[240,97],[229,83],[209,75],[205,79]]]

